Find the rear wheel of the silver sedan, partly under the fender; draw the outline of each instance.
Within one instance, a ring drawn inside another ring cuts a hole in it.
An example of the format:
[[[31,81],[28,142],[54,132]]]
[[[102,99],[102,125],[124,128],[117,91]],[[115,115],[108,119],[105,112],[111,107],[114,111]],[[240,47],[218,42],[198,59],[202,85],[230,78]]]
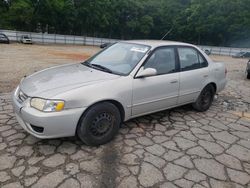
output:
[[[207,111],[213,103],[215,89],[212,85],[207,85],[200,93],[200,96],[193,103],[193,108],[198,112]]]

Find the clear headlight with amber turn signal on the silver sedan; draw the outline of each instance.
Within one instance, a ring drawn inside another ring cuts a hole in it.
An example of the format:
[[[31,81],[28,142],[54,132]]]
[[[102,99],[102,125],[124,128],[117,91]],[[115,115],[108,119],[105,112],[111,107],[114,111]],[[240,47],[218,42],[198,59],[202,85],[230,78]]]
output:
[[[64,101],[32,98],[30,106],[44,112],[59,112],[64,108]]]

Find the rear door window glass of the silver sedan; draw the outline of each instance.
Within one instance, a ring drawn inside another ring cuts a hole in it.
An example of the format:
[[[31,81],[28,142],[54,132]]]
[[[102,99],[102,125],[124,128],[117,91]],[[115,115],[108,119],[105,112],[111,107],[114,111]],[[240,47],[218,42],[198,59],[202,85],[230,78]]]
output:
[[[178,48],[178,53],[181,71],[189,71],[208,66],[206,59],[193,48]]]

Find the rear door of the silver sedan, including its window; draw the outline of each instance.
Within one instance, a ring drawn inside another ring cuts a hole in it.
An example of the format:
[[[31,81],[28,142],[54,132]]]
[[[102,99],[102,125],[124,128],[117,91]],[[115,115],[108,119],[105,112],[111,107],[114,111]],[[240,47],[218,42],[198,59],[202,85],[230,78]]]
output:
[[[194,102],[209,77],[208,62],[193,47],[178,47],[180,62],[180,93],[178,104]]]

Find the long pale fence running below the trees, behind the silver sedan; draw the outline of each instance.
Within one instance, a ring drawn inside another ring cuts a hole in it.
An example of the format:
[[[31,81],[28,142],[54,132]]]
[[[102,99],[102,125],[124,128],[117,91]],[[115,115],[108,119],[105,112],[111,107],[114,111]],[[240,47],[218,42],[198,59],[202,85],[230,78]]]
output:
[[[23,35],[28,35],[34,43],[38,44],[71,44],[71,45],[92,45],[99,46],[103,43],[114,43],[118,39],[108,38],[95,38],[86,36],[73,36],[73,35],[58,35],[58,34],[45,34],[12,30],[1,30],[13,42],[19,42]],[[230,48],[230,47],[216,47],[216,46],[199,46],[202,50],[208,50],[214,55],[227,55],[232,56],[239,52],[250,52],[250,48]]]

